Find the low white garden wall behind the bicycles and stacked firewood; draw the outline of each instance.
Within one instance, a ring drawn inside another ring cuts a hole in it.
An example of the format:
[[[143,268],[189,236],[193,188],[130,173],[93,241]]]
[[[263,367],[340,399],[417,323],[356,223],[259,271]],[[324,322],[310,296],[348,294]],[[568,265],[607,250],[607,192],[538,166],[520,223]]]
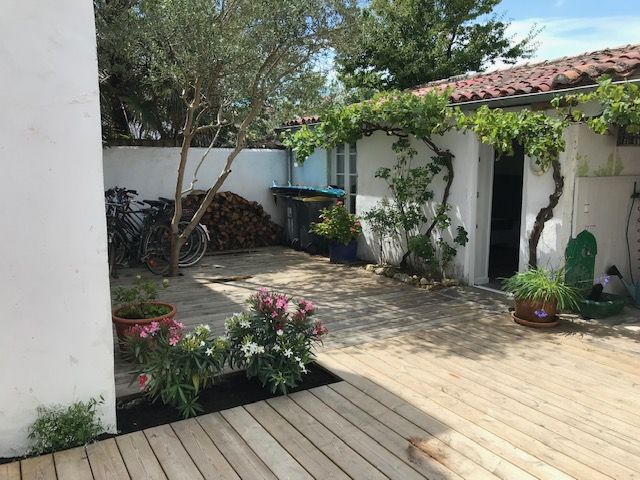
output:
[[[191,148],[185,171],[185,189],[206,149]],[[209,152],[200,168],[195,188],[206,190],[218,178],[230,149]],[[173,198],[180,149],[173,147],[109,147],[104,149],[104,188],[127,187],[139,199]],[[246,149],[233,162],[232,172],[221,191],[231,191],[260,203],[272,219],[283,224],[283,209],[273,201],[269,187],[287,182],[287,152]]]

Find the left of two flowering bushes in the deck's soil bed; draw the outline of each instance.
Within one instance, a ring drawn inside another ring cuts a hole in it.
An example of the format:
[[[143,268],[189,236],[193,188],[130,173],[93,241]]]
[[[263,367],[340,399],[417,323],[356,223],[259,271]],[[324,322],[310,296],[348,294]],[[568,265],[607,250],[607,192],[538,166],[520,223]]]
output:
[[[125,343],[138,364],[135,373],[141,390],[187,418],[202,411],[199,395],[222,372],[227,345],[212,337],[208,325],[186,335],[183,328],[172,319],[136,325],[127,331]]]

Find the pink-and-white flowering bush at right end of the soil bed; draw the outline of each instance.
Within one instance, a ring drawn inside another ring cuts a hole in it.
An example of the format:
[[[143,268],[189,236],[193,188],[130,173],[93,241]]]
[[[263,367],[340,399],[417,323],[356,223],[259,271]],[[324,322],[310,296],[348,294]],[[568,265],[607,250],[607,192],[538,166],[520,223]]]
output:
[[[257,377],[272,392],[286,393],[307,373],[311,347],[327,329],[311,319],[315,307],[307,300],[299,300],[291,313],[290,298],[260,289],[249,304],[249,311],[227,319],[229,364],[246,368],[248,377]]]

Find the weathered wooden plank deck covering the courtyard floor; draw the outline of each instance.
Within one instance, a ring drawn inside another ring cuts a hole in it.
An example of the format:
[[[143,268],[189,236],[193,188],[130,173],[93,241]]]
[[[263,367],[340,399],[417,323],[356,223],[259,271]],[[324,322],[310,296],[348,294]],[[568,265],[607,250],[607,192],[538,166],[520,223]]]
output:
[[[640,478],[637,333],[532,331],[477,290],[280,249],[208,261],[172,287],[181,320],[221,328],[262,285],[303,295],[330,328],[319,361],[343,381],[0,465],[0,480]]]

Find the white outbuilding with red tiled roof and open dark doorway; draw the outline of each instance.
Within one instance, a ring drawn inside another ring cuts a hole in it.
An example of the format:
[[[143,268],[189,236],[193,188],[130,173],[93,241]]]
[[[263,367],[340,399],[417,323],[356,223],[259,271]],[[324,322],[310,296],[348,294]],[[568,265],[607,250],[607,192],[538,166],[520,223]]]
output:
[[[412,92],[423,95],[450,89],[451,104],[463,110],[482,105],[550,110],[553,97],[594,89],[603,75],[616,82],[640,81],[640,45],[456,76]],[[304,117],[289,122],[287,128],[312,126],[320,120]],[[631,195],[634,189],[640,191],[640,142],[622,134],[600,136],[581,124],[568,127],[565,139],[567,148],[560,156],[564,194],[545,225],[538,247],[539,265],[561,265],[569,239],[588,229],[599,244],[596,271],[611,264],[637,270],[640,255],[628,255],[627,243],[636,248],[640,232],[627,229],[626,221]],[[316,151],[304,164],[293,163],[291,181],[343,187],[349,209],[363,214],[388,193],[374,173],[393,165],[392,141],[378,132],[357,144]],[[455,260],[456,274],[470,284],[496,285],[498,278],[526,268],[529,232],[553,191],[551,173],[539,171],[522,149],[516,149],[515,161],[496,161],[493,148],[470,133],[448,133],[439,145],[455,156],[451,214],[469,232],[469,244]],[[423,145],[416,142],[415,147],[428,155]],[[444,184],[436,186],[436,195],[438,188]],[[640,212],[633,211],[631,218],[638,223]],[[363,258],[379,260],[379,246],[366,225],[359,251]]]

